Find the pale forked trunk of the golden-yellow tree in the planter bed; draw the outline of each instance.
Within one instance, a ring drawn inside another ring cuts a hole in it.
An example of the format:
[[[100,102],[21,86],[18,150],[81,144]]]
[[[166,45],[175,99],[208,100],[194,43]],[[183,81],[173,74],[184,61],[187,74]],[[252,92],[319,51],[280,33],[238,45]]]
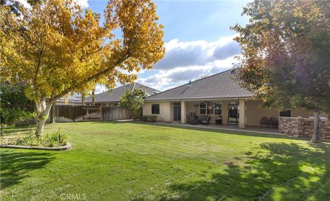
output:
[[[43,128],[48,119],[48,115],[50,115],[52,104],[53,103],[46,103],[45,98],[36,102],[36,132],[34,133],[36,137],[41,137],[43,135]]]

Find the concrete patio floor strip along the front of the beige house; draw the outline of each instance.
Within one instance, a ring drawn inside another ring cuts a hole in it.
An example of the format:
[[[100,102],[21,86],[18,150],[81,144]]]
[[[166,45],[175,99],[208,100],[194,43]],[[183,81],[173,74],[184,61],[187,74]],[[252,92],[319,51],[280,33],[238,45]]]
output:
[[[278,132],[278,128],[267,128],[261,126],[245,126],[245,128],[239,128],[238,125],[219,125],[219,124],[210,124],[210,125],[192,125],[189,123],[161,123],[157,122],[157,124],[162,125],[171,125],[171,126],[184,126],[190,128],[208,128],[214,130],[230,130],[230,131],[240,131],[240,132],[256,132],[256,133],[265,133],[265,134],[281,134]]]

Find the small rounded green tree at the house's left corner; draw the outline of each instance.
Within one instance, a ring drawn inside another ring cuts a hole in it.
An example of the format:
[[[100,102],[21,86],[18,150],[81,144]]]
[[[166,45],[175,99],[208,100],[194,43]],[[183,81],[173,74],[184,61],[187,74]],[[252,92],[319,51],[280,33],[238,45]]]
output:
[[[141,109],[146,98],[146,92],[142,88],[127,90],[120,98],[119,106],[126,108],[133,115],[133,119],[141,116]]]

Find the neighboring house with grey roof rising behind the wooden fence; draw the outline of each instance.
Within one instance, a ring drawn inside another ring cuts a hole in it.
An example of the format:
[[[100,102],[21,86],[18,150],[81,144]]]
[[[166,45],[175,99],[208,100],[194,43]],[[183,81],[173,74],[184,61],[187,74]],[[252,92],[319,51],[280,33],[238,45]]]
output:
[[[123,86],[119,86],[117,88],[113,88],[109,91],[105,91],[103,93],[99,93],[95,95],[95,105],[96,106],[115,106],[120,101],[120,98],[125,93],[125,91],[130,90],[133,91],[135,88],[141,88],[146,91],[147,96],[154,95],[159,93],[160,91],[155,88],[151,88],[148,86],[144,86],[143,84],[139,84],[137,82],[131,84],[125,84]],[[92,105],[91,97],[87,97],[85,99],[85,104]]]

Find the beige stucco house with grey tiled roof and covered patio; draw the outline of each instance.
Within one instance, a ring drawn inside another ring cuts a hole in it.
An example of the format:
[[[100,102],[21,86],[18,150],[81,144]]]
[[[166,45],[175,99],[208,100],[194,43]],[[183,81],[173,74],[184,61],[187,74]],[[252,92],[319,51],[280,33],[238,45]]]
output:
[[[143,115],[157,115],[157,121],[186,123],[187,116],[211,117],[210,123],[261,126],[263,117],[311,117],[306,110],[278,112],[261,108],[253,94],[241,88],[232,79],[234,71],[228,70],[195,82],[147,97]],[[222,119],[219,121],[219,119]],[[218,121],[217,121],[218,120]]]

